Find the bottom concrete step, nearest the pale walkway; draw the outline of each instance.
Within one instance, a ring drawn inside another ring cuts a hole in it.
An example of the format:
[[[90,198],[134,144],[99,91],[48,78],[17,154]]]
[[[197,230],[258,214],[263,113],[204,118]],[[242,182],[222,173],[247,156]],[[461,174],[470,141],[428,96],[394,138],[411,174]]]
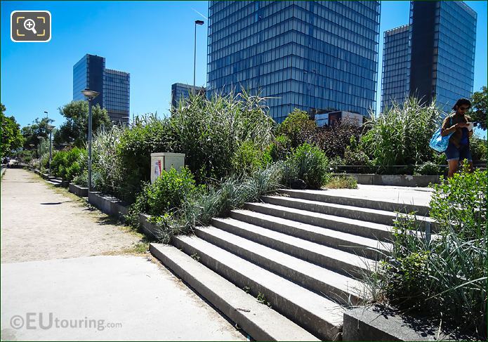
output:
[[[231,282],[173,246],[150,244],[150,251],[256,341],[319,341],[305,329],[256,301]]]

